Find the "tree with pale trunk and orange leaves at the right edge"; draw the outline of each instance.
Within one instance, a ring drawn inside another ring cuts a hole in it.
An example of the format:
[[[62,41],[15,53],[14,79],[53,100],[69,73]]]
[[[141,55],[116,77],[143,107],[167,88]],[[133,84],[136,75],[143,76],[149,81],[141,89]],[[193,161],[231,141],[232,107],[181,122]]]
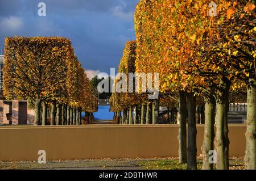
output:
[[[220,22],[212,27],[219,39],[210,53],[227,58],[226,69],[247,86],[246,169],[256,169],[256,66],[255,66],[255,1],[224,1],[218,7]],[[241,84],[236,85],[241,89]]]

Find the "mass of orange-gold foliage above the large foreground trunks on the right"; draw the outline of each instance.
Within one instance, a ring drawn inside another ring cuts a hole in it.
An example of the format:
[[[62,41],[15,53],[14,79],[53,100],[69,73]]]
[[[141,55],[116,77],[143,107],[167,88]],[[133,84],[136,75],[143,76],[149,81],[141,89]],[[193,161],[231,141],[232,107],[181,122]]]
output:
[[[233,56],[240,58],[241,52],[234,45],[251,54],[244,42],[254,40],[256,28],[251,19],[255,17],[255,5],[248,3],[244,8],[242,3],[220,0],[217,16],[210,18],[208,3],[206,0],[193,3],[141,0],[138,3],[135,12],[136,69],[138,72],[159,72],[161,91],[178,91],[184,87],[196,87],[196,84],[209,86],[207,83],[210,81],[213,81],[213,85],[217,84],[217,78],[213,75],[224,75],[231,71],[228,78],[236,76],[232,65],[237,62]],[[247,29],[246,20],[250,23]],[[237,35],[240,29],[243,33]],[[245,69],[248,63],[241,61],[246,65],[238,65]],[[202,71],[216,74],[201,78],[203,75],[195,65]],[[183,76],[177,76],[179,74]],[[186,74],[193,76],[187,78]],[[245,73],[243,77],[246,77]]]

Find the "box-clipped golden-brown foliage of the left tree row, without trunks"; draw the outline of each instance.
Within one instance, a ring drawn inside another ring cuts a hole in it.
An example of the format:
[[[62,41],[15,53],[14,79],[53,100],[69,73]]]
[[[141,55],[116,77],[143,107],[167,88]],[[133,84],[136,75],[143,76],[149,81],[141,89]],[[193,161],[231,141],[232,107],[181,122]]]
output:
[[[5,61],[7,98],[40,98],[77,106],[86,100],[81,95],[88,90],[89,81],[86,83],[84,69],[75,58],[69,39],[7,37]],[[84,87],[79,87],[80,83]]]

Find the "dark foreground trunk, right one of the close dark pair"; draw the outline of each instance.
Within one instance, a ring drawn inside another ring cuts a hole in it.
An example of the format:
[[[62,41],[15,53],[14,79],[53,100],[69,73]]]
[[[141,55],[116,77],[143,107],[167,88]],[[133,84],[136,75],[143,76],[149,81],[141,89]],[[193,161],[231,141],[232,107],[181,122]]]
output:
[[[196,170],[196,97],[193,92],[187,94],[188,108],[188,164],[187,169]]]

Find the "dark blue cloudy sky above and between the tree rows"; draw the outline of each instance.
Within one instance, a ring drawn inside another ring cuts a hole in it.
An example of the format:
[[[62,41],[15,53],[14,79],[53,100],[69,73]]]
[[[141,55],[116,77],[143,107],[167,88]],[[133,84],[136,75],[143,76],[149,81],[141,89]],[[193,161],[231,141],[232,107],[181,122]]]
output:
[[[0,46],[6,36],[63,36],[89,76],[118,68],[126,41],[134,40],[139,0],[0,0]],[[46,16],[38,3],[46,3]]]

